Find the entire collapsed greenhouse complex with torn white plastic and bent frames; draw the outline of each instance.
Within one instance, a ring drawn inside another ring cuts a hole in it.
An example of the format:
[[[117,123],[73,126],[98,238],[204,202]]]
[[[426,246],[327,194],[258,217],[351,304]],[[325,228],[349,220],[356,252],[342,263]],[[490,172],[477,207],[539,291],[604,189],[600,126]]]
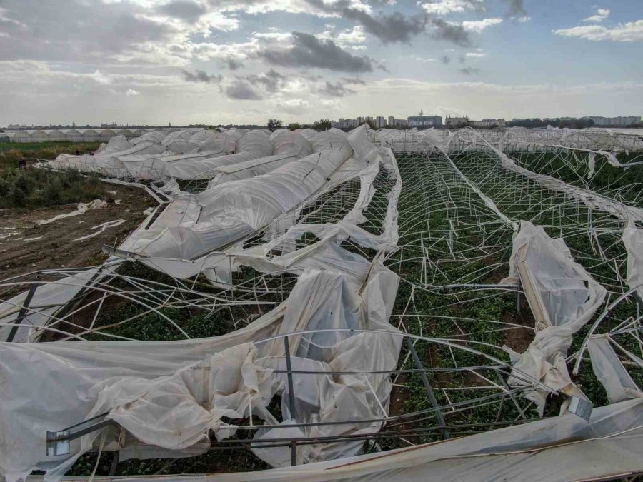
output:
[[[43,161],[158,206],[1,282],[0,475],[643,473],[641,164],[631,132],[367,126]]]

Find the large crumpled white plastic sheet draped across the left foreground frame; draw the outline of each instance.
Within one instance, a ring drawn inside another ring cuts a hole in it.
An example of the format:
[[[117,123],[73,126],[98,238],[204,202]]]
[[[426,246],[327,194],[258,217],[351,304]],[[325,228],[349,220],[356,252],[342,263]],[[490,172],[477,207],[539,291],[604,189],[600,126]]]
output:
[[[280,306],[246,328],[216,338],[2,343],[0,371],[9,389],[0,393],[0,398],[11,396],[11,403],[9,399],[2,400],[0,413],[11,411],[11,416],[1,414],[0,434],[6,440],[11,433],[21,443],[0,452],[1,473],[8,481],[14,481],[38,468],[57,478],[99,441],[99,433],[90,433],[71,443],[70,456],[46,457],[42,449],[44,434],[59,428],[51,426],[53,413],[55,423],[66,426],[109,411],[109,418],[129,435],[136,436],[139,443],[160,447],[164,456],[169,451],[174,456],[202,453],[209,446],[206,433],[210,429],[219,437],[230,436],[234,426],[223,423],[224,416],[241,418],[252,410],[271,423],[274,419],[266,411],[269,399],[274,393],[286,399],[283,377],[272,372],[281,366],[284,341],[271,336],[307,329],[377,330],[378,333],[321,331],[291,335],[293,360],[314,360],[322,368],[328,366],[329,371],[392,371],[402,338],[381,332],[394,331],[388,317],[397,279],[397,275],[375,263],[358,294],[342,273],[308,270]],[[267,340],[259,343],[261,339]],[[328,404],[324,399],[320,399],[319,406],[309,403],[311,393],[297,381],[294,395],[298,423],[304,419],[347,420],[347,413],[351,413],[358,421],[342,424],[341,428],[342,433],[350,433],[370,426],[360,424],[359,419],[381,417],[381,406],[388,405],[391,381],[386,373],[314,378],[320,383],[319,393],[334,403]],[[305,383],[310,383],[309,377]],[[34,397],[35,387],[46,396]],[[15,403],[19,403],[19,411],[14,410]],[[379,424],[370,428],[377,431]],[[305,430],[328,433],[339,428]],[[106,450],[126,449],[118,443],[131,441],[119,436],[118,431],[107,436]],[[332,444],[328,451],[310,450],[304,457],[306,461],[324,460],[350,455],[354,450],[352,443],[344,448],[342,444]],[[136,453],[140,455],[141,451]],[[144,453],[159,456],[154,451]],[[271,460],[269,454],[264,456]]]

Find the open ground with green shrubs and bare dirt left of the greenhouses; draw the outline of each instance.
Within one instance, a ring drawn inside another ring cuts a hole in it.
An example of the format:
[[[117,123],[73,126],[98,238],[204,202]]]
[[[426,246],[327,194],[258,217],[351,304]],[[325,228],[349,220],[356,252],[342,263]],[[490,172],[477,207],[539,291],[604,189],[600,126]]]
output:
[[[0,267],[3,278],[61,266],[101,264],[106,259],[102,246],[119,244],[145,219],[144,211],[156,205],[156,201],[141,189],[107,184],[96,174],[82,176],[77,171],[54,172],[31,166],[19,171],[7,167],[14,160],[17,164],[16,159],[20,156],[52,159],[61,153],[97,147],[98,144],[70,143],[0,144]],[[36,221],[75,211],[78,203],[90,203],[94,199],[106,201],[105,206],[81,216],[36,224]],[[94,226],[116,219],[125,222],[84,241],[74,241],[96,232]]]

